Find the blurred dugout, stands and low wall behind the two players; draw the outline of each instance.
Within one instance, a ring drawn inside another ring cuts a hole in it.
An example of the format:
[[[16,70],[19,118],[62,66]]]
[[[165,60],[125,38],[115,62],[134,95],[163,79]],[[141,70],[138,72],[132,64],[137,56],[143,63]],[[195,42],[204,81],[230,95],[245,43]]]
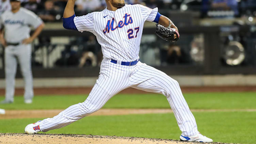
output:
[[[46,23],[33,42],[35,88],[92,87],[98,77],[100,45],[89,32],[62,27],[66,1],[22,0],[23,7]],[[176,45],[170,45],[154,34],[155,23],[146,22],[141,41],[142,62],[164,71],[181,86],[256,85],[255,0],[126,0],[126,3],[158,7],[161,14],[174,21],[181,35]],[[85,15],[105,7],[105,0],[77,0],[75,13]],[[22,88],[19,70],[16,77],[16,87]],[[0,88],[4,87],[1,47]]]

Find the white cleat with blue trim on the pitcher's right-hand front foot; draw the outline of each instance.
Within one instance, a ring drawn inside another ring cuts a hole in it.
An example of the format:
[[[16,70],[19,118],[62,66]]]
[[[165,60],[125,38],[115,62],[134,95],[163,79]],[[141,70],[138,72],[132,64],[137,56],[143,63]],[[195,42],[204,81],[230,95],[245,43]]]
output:
[[[189,142],[212,142],[212,139],[209,139],[207,137],[205,137],[204,135],[202,135],[201,133],[197,133],[196,135],[192,135],[189,137],[185,137],[183,135],[180,135],[180,140],[181,141],[189,141]]]

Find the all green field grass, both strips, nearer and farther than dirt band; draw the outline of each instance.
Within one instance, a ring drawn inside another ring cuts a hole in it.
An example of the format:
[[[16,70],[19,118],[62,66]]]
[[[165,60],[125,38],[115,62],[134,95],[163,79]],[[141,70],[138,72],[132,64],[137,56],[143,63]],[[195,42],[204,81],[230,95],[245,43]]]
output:
[[[65,109],[83,102],[86,95],[35,96],[30,105],[23,97],[0,105],[7,110]],[[256,93],[186,93],[190,109],[256,109]],[[4,97],[0,97],[0,100]],[[103,108],[170,108],[166,98],[159,94],[118,94]],[[194,112],[198,130],[214,142],[255,144],[256,112]],[[0,132],[23,132],[25,126],[42,118],[0,119]],[[115,116],[89,116],[67,127],[50,133],[117,135],[179,139],[180,130],[173,114],[141,114]]]

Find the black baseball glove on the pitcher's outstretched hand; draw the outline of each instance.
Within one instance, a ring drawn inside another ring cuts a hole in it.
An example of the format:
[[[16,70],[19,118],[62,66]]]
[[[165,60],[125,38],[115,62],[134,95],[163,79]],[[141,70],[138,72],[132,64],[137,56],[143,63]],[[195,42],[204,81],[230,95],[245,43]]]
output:
[[[167,28],[159,24],[156,24],[156,26],[156,34],[165,41],[176,43],[179,40],[179,32],[174,28],[170,28],[171,24]],[[177,36],[175,37],[174,34]]]

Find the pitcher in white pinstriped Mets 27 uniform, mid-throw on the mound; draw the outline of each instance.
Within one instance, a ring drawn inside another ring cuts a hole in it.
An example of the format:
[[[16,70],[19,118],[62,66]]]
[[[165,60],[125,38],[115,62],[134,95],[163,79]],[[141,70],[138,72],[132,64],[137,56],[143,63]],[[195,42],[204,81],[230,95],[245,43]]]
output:
[[[66,29],[89,31],[101,45],[103,60],[99,78],[87,99],[70,106],[53,118],[47,118],[25,128],[28,134],[67,126],[93,112],[98,111],[112,96],[133,87],[135,89],[163,94],[170,103],[182,131],[180,140],[212,142],[197,131],[193,114],[190,112],[178,82],[160,70],[140,62],[139,51],[144,22],[157,23],[156,33],[166,41],[179,38],[173,22],[158,13],[158,8],[149,9],[135,4],[127,5],[124,0],[106,0],[107,8],[83,16],[75,16],[75,0],[68,0],[63,26]]]

